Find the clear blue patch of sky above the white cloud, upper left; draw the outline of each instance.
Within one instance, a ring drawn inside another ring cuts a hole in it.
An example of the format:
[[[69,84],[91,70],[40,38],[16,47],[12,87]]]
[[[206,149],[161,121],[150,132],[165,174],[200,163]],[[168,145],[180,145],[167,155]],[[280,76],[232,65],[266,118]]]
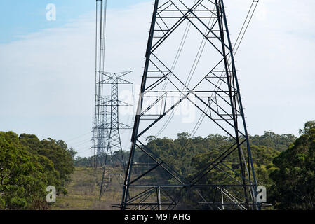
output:
[[[148,0],[108,1],[112,8],[126,8],[135,3]],[[46,6],[55,4],[58,8],[58,19],[46,20]],[[15,41],[19,36],[65,25],[79,15],[95,10],[95,0],[18,0],[0,1],[0,43]]]

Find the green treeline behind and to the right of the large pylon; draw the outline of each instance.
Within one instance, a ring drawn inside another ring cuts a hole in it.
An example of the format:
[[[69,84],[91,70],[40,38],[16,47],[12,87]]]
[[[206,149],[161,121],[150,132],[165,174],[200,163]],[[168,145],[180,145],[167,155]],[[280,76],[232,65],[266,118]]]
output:
[[[180,175],[190,177],[230,146],[231,141],[220,134],[190,138],[189,134],[181,133],[177,134],[177,139],[148,137],[146,148],[170,163]],[[250,136],[250,146],[258,184],[267,187],[267,202],[273,204],[274,209],[315,208],[315,121],[307,122],[298,138],[293,134],[279,135],[269,131],[263,135]],[[124,156],[128,159],[128,153],[125,152]],[[232,154],[231,160],[235,157]],[[76,165],[88,165],[91,160],[77,158]],[[148,165],[153,163],[139,150],[136,151],[134,161]],[[224,169],[224,172],[234,175],[229,169]],[[143,181],[154,183],[161,180],[172,183],[172,179],[168,179],[163,171]],[[204,176],[200,183],[215,181],[230,183],[226,175],[222,176],[222,172],[217,171]],[[203,190],[203,195],[211,194]]]

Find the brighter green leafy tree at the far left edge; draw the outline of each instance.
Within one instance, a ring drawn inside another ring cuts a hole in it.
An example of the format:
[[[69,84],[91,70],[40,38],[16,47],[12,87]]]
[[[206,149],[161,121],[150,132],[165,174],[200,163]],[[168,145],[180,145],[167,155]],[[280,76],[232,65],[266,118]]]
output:
[[[48,181],[43,166],[13,132],[0,132],[0,167],[2,207],[27,209],[34,199],[44,197]]]

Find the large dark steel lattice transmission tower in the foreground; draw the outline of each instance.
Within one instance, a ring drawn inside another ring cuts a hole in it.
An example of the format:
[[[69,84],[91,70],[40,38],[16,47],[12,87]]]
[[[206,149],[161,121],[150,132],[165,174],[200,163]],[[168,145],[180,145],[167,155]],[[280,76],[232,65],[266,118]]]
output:
[[[189,202],[191,209],[260,209],[223,0],[155,0],[145,57],[119,207],[175,209]],[[229,139],[229,146],[209,148],[192,175],[175,165],[185,161],[185,153],[162,157],[146,144],[160,127],[189,128],[168,125],[184,103],[201,115],[203,132],[220,130]],[[147,167],[138,169],[142,161]]]

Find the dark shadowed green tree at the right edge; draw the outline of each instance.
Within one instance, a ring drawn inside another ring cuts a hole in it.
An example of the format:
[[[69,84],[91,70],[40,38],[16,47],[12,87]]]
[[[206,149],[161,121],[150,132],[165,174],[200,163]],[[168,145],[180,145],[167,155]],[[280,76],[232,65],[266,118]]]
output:
[[[272,202],[276,209],[314,209],[315,121],[307,122],[287,151],[274,158]]]

